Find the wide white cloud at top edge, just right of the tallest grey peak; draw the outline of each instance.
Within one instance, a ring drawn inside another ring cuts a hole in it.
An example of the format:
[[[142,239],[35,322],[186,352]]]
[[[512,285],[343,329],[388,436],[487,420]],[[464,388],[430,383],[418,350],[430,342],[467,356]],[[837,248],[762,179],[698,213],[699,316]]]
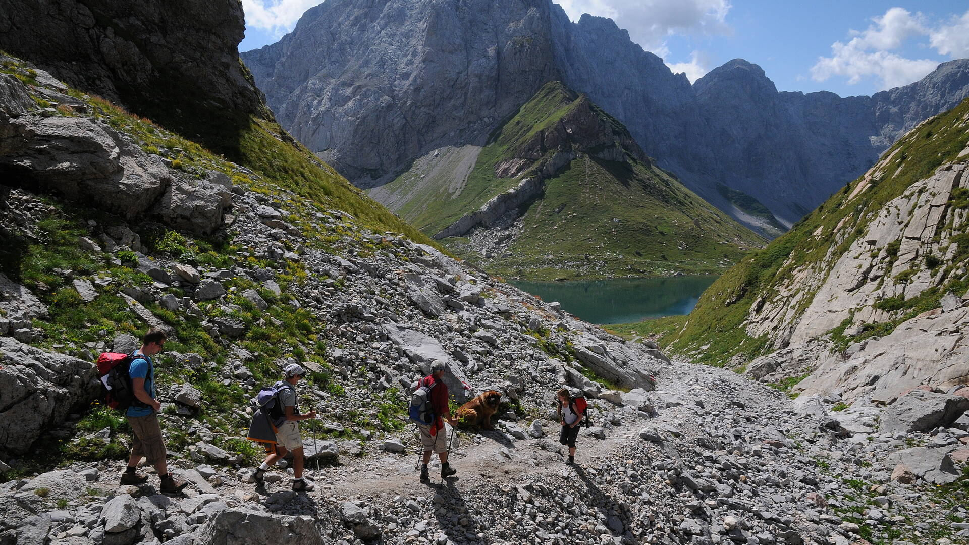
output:
[[[730,34],[728,0],[559,0],[572,20],[582,14],[610,17],[647,51],[664,56],[672,34]]]

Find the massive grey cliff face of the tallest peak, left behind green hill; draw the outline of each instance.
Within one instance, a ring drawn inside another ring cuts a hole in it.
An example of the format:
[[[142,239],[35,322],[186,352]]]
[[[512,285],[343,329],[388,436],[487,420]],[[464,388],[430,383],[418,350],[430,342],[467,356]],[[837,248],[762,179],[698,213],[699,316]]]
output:
[[[243,53],[284,127],[361,186],[443,144],[477,143],[555,80],[541,0],[335,0]]]

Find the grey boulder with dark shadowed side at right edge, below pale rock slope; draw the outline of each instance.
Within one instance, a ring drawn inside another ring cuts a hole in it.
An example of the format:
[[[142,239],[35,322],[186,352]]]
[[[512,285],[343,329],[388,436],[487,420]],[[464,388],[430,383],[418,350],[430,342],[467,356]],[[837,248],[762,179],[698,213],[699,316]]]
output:
[[[967,409],[969,398],[913,390],[885,410],[878,431],[913,433],[948,428]]]

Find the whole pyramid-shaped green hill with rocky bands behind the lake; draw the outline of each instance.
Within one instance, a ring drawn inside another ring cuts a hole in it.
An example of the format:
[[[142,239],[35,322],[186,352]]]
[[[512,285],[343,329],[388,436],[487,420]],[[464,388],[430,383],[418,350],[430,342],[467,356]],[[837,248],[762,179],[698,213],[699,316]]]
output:
[[[710,273],[763,243],[558,81],[484,147],[434,150],[369,193],[458,254],[512,277]]]

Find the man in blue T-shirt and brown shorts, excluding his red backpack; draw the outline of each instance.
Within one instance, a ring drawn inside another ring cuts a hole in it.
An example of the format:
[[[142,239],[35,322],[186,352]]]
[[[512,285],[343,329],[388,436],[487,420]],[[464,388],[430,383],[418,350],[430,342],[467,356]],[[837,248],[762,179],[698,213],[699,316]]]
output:
[[[135,472],[143,457],[148,464],[154,465],[162,480],[163,493],[178,492],[185,488],[184,481],[175,480],[169,471],[166,460],[165,438],[158,426],[158,411],[162,404],[155,399],[155,366],[151,356],[162,351],[168,336],[160,329],[151,328],[141,338],[141,348],[135,351],[128,368],[131,376],[132,392],[138,401],[128,407],[128,424],[134,433],[131,442],[131,458],[128,467],[121,474],[121,484],[140,485],[148,480],[147,475]]]

